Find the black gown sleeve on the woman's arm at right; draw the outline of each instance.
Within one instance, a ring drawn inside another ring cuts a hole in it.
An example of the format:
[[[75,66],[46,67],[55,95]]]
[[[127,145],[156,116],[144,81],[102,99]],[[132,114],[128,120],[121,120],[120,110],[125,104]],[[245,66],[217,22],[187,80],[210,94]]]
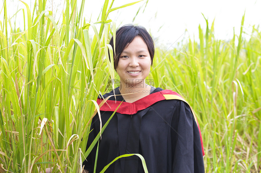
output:
[[[200,134],[188,104],[183,101],[177,102],[172,124],[176,127],[172,130],[172,134],[175,134],[173,137],[176,138],[176,145],[173,145],[172,149],[172,172],[205,172]]]

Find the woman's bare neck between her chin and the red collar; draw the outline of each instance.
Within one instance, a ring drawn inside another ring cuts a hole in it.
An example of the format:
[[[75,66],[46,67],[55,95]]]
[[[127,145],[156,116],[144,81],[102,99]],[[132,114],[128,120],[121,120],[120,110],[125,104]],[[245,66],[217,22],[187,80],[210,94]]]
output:
[[[151,86],[145,80],[135,85],[120,82],[120,93],[126,102],[132,103],[150,94]]]

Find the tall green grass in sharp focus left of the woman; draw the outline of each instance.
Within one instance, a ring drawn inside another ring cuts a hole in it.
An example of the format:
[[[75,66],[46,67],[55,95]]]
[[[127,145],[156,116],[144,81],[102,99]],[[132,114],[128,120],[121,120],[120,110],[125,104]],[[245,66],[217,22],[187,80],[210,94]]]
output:
[[[64,172],[67,165],[67,171],[81,172],[88,155],[90,120],[99,109],[97,96],[104,92],[109,76],[114,78],[108,55],[103,58],[108,35],[116,30],[108,15],[136,3],[112,8],[114,1],[109,4],[105,0],[99,20],[86,23],[84,0],[80,8],[76,8],[76,0],[66,0],[60,21],[54,20],[52,11],[45,11],[46,2],[35,1],[30,9],[21,1],[24,9],[14,16],[23,14],[27,20],[16,28],[4,1],[0,23],[0,171],[29,173],[54,167]],[[94,31],[93,37],[89,30]]]

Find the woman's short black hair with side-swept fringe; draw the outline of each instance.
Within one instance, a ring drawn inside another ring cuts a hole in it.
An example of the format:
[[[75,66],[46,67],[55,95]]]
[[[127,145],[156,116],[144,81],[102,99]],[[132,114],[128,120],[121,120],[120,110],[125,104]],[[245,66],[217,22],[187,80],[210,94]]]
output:
[[[132,24],[124,25],[117,29],[116,31],[116,43],[115,43],[115,52],[113,51],[114,56],[114,69],[117,69],[119,56],[122,51],[134,40],[135,37],[140,36],[146,43],[150,56],[151,56],[151,65],[154,57],[154,42],[147,32],[147,30],[142,26],[134,26]],[[112,49],[114,50],[113,37],[110,39]],[[109,53],[110,58],[110,53]],[[111,60],[111,59],[110,59]]]

